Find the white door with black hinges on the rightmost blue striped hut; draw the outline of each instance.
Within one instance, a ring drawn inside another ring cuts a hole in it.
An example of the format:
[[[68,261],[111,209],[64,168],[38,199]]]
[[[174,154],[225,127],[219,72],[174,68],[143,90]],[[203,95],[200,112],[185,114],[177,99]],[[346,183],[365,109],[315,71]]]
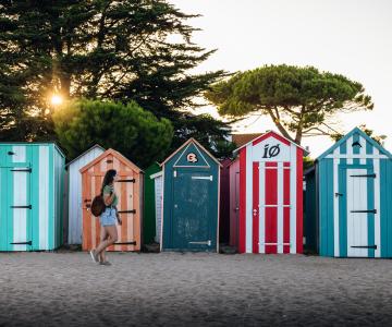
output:
[[[347,169],[347,256],[368,256],[369,223],[373,222],[376,209],[373,201],[368,201],[368,180],[375,174],[367,169]],[[370,207],[369,207],[370,206]],[[375,242],[372,242],[375,243]]]

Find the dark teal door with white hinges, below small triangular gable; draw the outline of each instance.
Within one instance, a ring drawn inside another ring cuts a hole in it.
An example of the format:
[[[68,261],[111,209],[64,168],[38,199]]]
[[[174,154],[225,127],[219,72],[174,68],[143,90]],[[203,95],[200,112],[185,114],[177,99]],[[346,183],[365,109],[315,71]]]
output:
[[[211,235],[212,221],[210,220],[212,175],[210,172],[194,170],[176,171],[175,174],[172,247],[215,249],[216,235]]]

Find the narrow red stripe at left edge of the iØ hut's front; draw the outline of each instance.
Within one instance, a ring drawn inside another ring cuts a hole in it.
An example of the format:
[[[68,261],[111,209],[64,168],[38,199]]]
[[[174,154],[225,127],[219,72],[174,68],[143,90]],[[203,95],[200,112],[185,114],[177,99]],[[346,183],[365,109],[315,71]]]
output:
[[[246,147],[240,150],[240,223],[238,252],[245,253],[246,228]]]

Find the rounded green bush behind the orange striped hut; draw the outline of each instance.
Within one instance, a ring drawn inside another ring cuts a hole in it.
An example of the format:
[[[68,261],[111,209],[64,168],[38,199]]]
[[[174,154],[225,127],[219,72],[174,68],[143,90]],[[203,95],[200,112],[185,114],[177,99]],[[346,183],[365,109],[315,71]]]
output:
[[[94,144],[114,148],[139,167],[147,167],[167,155],[173,128],[158,120],[135,101],[73,100],[53,113],[56,133],[69,158]]]

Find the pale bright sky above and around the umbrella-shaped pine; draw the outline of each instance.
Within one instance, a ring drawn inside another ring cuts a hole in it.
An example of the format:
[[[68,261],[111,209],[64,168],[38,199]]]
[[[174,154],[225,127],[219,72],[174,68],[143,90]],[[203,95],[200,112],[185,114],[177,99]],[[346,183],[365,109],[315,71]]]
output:
[[[196,72],[252,70],[265,64],[314,65],[364,85],[375,109],[336,116],[340,131],[366,123],[377,135],[388,136],[392,150],[392,0],[169,0],[189,20],[193,41],[217,49]],[[211,106],[199,109],[218,117]],[[277,130],[268,118],[250,118],[233,126],[234,133]],[[333,141],[308,137],[310,156],[317,157]]]

